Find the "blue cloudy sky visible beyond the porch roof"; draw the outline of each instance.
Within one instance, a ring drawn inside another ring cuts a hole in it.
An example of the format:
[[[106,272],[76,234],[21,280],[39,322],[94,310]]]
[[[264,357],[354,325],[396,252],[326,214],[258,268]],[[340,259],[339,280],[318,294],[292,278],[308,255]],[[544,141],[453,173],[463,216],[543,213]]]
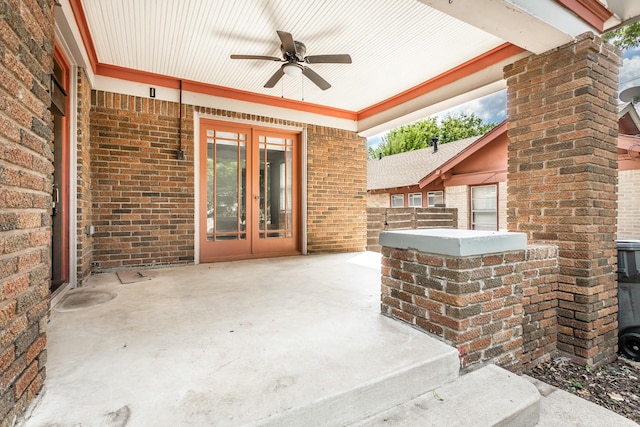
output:
[[[622,67],[619,74],[618,90],[623,90],[640,86],[640,47],[627,49],[623,52]],[[471,114],[484,120],[485,123],[498,124],[507,118],[507,90],[501,90],[491,95],[483,96],[457,107],[450,108],[436,114],[437,117],[444,117],[447,114],[458,115],[461,113]],[[367,147],[376,147],[380,144],[384,134],[367,138]]]

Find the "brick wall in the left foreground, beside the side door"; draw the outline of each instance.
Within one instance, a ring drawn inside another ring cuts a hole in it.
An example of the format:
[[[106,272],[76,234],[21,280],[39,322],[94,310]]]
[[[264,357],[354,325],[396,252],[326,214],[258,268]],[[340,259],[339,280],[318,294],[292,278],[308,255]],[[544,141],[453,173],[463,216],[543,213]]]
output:
[[[53,0],[1,1],[0,425],[45,376],[51,268]]]

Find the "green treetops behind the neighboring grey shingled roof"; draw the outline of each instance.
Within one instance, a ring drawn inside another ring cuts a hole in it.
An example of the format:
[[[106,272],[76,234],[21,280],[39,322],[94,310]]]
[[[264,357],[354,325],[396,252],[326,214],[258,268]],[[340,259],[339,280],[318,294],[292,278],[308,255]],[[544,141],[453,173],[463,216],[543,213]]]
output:
[[[404,153],[431,146],[431,140],[438,138],[439,144],[483,135],[492,129],[493,123],[483,123],[475,114],[447,115],[440,123],[435,117],[403,125],[392,129],[382,138],[378,147],[369,147],[368,156],[375,159],[380,156]]]

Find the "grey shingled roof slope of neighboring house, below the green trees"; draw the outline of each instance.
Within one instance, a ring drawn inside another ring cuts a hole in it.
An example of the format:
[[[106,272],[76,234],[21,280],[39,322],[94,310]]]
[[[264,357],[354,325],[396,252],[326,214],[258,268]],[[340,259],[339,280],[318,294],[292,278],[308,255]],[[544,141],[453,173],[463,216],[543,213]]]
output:
[[[435,153],[433,147],[427,147],[369,160],[367,162],[367,190],[417,185],[425,174],[455,157],[479,138],[474,136],[446,144],[438,144],[438,151]]]

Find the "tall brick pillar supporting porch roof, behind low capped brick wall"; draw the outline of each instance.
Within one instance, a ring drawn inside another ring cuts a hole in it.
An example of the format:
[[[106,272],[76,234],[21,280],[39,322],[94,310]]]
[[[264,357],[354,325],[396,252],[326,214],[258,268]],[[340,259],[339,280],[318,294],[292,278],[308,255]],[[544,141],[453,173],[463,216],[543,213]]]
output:
[[[620,53],[599,37],[505,67],[508,228],[559,248],[558,350],[579,362],[617,343],[617,85]]]

